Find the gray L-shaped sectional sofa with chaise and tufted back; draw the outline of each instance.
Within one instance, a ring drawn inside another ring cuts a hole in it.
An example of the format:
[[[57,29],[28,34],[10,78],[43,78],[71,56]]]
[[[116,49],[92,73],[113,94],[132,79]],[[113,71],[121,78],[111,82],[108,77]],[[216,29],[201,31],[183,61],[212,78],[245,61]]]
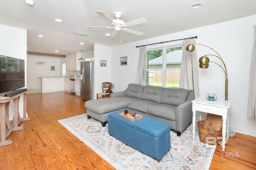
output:
[[[166,122],[180,136],[192,121],[194,90],[183,88],[164,88],[128,84],[122,92],[112,93],[110,98],[85,102],[87,118],[91,117],[106,126],[108,114],[116,110],[128,111]]]

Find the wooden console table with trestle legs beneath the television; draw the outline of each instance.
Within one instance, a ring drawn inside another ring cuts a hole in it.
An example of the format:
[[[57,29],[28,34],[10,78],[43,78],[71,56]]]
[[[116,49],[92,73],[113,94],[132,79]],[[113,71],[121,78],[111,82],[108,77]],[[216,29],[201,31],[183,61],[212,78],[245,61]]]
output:
[[[10,145],[12,141],[6,140],[6,138],[10,135],[10,133],[12,133],[12,131],[22,130],[22,127],[18,126],[20,122],[30,120],[30,118],[26,117],[27,92],[29,92],[30,90],[16,94],[15,96],[12,96],[10,98],[0,100],[0,111],[1,111],[0,147],[4,145]],[[23,95],[23,118],[20,117],[20,112],[19,112],[20,96],[22,95]],[[12,120],[9,120],[9,106],[12,100],[14,102],[14,116]]]

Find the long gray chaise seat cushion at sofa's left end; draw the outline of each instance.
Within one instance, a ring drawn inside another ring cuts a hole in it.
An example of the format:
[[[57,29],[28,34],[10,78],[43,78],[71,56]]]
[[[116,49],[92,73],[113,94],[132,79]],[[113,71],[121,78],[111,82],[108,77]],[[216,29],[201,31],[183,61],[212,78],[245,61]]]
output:
[[[138,99],[130,97],[100,98],[86,101],[85,107],[96,113],[103,114],[110,111],[126,108],[130,102],[136,100]]]

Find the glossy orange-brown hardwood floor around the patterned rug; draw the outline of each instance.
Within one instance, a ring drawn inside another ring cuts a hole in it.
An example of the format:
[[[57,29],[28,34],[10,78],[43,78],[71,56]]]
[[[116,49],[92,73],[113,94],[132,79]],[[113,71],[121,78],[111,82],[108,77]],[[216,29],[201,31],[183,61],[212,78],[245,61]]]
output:
[[[114,169],[58,122],[86,113],[84,102],[67,92],[28,94],[30,120],[7,137],[11,145],[0,147],[0,170]],[[210,170],[256,169],[256,137],[237,133],[226,147],[216,148]]]

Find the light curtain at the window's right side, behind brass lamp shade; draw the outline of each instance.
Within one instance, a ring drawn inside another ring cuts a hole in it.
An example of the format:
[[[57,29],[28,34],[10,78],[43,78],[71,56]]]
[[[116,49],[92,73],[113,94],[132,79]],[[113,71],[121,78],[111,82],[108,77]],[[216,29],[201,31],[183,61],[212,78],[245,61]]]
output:
[[[182,42],[182,59],[180,68],[180,88],[194,90],[195,98],[199,97],[198,85],[198,62],[196,51],[186,51],[186,46],[195,43],[195,40],[185,40]]]

